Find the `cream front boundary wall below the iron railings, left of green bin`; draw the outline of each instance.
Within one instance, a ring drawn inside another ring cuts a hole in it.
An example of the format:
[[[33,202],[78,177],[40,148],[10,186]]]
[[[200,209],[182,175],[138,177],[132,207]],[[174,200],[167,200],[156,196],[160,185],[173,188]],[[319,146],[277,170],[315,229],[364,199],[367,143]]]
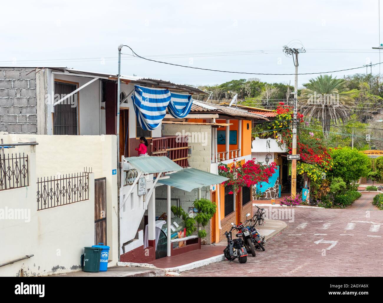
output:
[[[5,141],[7,142],[7,141]],[[89,174],[89,199],[37,210],[37,148],[18,147],[28,155],[29,186],[0,192],[0,211],[25,209],[24,218],[2,217],[0,263],[33,254],[0,267],[0,276],[51,275],[79,270],[84,246],[94,242],[94,174]],[[15,152],[15,151],[13,151]]]

